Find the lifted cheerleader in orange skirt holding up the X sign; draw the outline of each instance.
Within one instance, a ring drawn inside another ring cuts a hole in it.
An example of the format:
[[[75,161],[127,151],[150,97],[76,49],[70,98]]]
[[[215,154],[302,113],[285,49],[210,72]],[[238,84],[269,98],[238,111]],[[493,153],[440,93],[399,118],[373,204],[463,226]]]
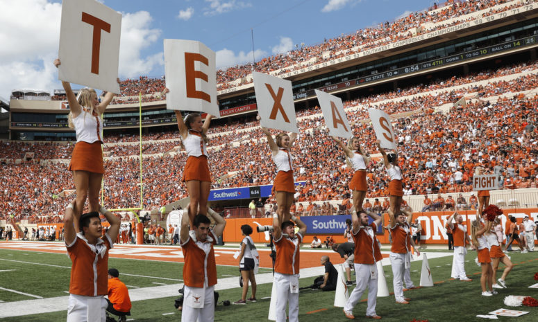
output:
[[[260,120],[261,118],[257,116],[256,119]],[[273,190],[276,195],[276,214],[280,222],[288,222],[291,218],[289,208],[292,207],[295,194],[293,158],[292,154],[289,154],[289,150],[292,148],[297,134],[292,133],[288,136],[287,133],[280,133],[273,139],[267,127],[262,127],[262,132],[267,136],[267,143],[269,143],[272,159],[277,168],[273,182]]]

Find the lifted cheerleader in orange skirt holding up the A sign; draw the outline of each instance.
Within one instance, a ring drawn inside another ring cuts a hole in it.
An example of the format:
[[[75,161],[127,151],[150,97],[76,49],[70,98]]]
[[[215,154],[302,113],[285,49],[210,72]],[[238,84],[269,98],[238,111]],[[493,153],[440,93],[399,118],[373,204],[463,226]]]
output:
[[[342,140],[331,136],[346,154],[346,163],[353,167],[355,173],[349,183],[349,189],[353,191],[353,206],[357,213],[362,211],[362,202],[368,190],[366,184],[366,165],[370,163],[370,156],[360,146],[360,139],[357,136],[352,136],[347,145],[344,145]]]

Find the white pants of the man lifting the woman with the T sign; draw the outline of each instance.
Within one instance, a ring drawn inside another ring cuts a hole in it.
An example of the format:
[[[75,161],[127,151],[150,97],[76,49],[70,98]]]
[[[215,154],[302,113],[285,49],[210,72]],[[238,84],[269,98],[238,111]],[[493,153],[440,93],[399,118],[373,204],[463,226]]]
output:
[[[88,310],[88,300],[100,300],[100,311]],[[69,294],[69,304],[67,305],[67,322],[105,322],[107,306],[108,302],[102,295],[83,296]],[[91,314],[91,316],[88,316],[88,314]]]

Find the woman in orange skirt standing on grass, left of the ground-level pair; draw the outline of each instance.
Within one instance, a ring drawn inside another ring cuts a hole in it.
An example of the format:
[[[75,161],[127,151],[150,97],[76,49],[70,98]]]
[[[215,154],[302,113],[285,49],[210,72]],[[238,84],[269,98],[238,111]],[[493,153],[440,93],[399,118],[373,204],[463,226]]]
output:
[[[493,269],[491,268],[491,258],[489,256],[489,244],[485,233],[491,230],[492,222],[487,221],[482,225],[478,220],[471,222],[471,241],[473,249],[478,251],[478,262],[482,267],[482,276],[480,276],[480,286],[482,287],[482,296],[492,296],[497,294],[493,290]],[[489,289],[489,291],[488,291]]]

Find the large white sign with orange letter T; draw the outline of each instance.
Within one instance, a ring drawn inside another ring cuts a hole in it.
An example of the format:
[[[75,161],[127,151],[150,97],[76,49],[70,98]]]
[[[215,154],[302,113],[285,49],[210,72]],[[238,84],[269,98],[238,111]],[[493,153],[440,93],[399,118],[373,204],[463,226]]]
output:
[[[58,79],[119,93],[121,14],[92,0],[63,0]]]

